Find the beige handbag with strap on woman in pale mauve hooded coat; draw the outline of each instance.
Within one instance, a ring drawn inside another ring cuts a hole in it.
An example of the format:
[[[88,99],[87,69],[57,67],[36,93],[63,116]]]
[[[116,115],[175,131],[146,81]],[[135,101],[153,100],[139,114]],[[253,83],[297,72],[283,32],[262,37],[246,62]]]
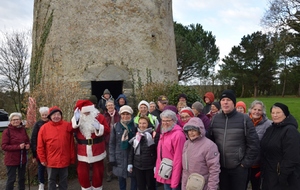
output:
[[[187,152],[185,152],[185,161],[186,168],[189,169],[188,160],[187,160]],[[202,175],[198,173],[191,173],[188,177],[186,183],[186,190],[202,190],[205,185],[205,179]]]

